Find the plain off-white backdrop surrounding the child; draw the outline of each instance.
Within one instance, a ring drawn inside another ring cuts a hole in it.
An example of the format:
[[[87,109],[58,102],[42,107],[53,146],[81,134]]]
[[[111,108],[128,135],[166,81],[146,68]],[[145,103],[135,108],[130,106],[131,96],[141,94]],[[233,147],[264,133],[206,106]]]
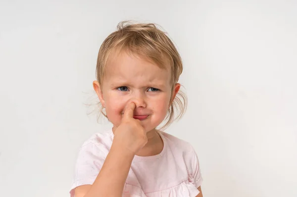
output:
[[[122,20],[161,25],[204,197],[297,197],[297,1],[1,0],[0,196],[67,197],[97,123],[99,47]]]

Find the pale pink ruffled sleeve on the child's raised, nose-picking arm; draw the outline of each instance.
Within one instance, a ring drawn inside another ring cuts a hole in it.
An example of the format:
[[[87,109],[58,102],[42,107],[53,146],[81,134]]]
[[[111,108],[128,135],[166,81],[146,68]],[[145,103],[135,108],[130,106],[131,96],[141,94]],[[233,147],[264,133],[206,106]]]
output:
[[[74,189],[82,185],[92,185],[101,170],[106,155],[92,143],[83,145],[78,153],[74,180],[70,190],[70,197],[74,197]]]

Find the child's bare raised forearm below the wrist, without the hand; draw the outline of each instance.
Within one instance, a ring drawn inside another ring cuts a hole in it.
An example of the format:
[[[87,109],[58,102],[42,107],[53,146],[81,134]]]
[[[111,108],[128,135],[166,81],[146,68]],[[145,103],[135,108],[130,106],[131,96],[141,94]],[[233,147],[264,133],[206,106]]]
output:
[[[133,157],[111,147],[94,184],[77,187],[75,197],[121,197]]]

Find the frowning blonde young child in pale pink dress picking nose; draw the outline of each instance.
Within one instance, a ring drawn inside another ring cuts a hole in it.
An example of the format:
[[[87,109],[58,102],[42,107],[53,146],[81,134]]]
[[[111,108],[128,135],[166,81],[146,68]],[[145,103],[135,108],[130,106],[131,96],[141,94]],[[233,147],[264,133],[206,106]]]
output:
[[[93,87],[113,128],[81,147],[71,197],[202,197],[194,148],[156,129],[184,112],[182,70],[154,24],[122,22],[104,40]]]

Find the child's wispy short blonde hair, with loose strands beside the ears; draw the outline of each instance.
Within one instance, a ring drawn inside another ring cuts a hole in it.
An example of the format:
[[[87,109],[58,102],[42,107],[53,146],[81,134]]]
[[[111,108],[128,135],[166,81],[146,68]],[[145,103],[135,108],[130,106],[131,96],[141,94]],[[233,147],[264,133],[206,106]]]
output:
[[[183,71],[183,63],[172,41],[165,32],[152,23],[133,24],[128,21],[120,22],[117,31],[111,33],[102,43],[97,59],[96,79],[101,85],[105,75],[108,56],[111,52],[128,51],[140,57],[147,58],[162,69],[171,71],[172,88],[178,82]],[[173,90],[173,89],[172,89]],[[101,107],[101,113],[106,117]],[[167,128],[174,120],[180,119],[187,108],[187,97],[179,91],[171,102],[162,129]]]

